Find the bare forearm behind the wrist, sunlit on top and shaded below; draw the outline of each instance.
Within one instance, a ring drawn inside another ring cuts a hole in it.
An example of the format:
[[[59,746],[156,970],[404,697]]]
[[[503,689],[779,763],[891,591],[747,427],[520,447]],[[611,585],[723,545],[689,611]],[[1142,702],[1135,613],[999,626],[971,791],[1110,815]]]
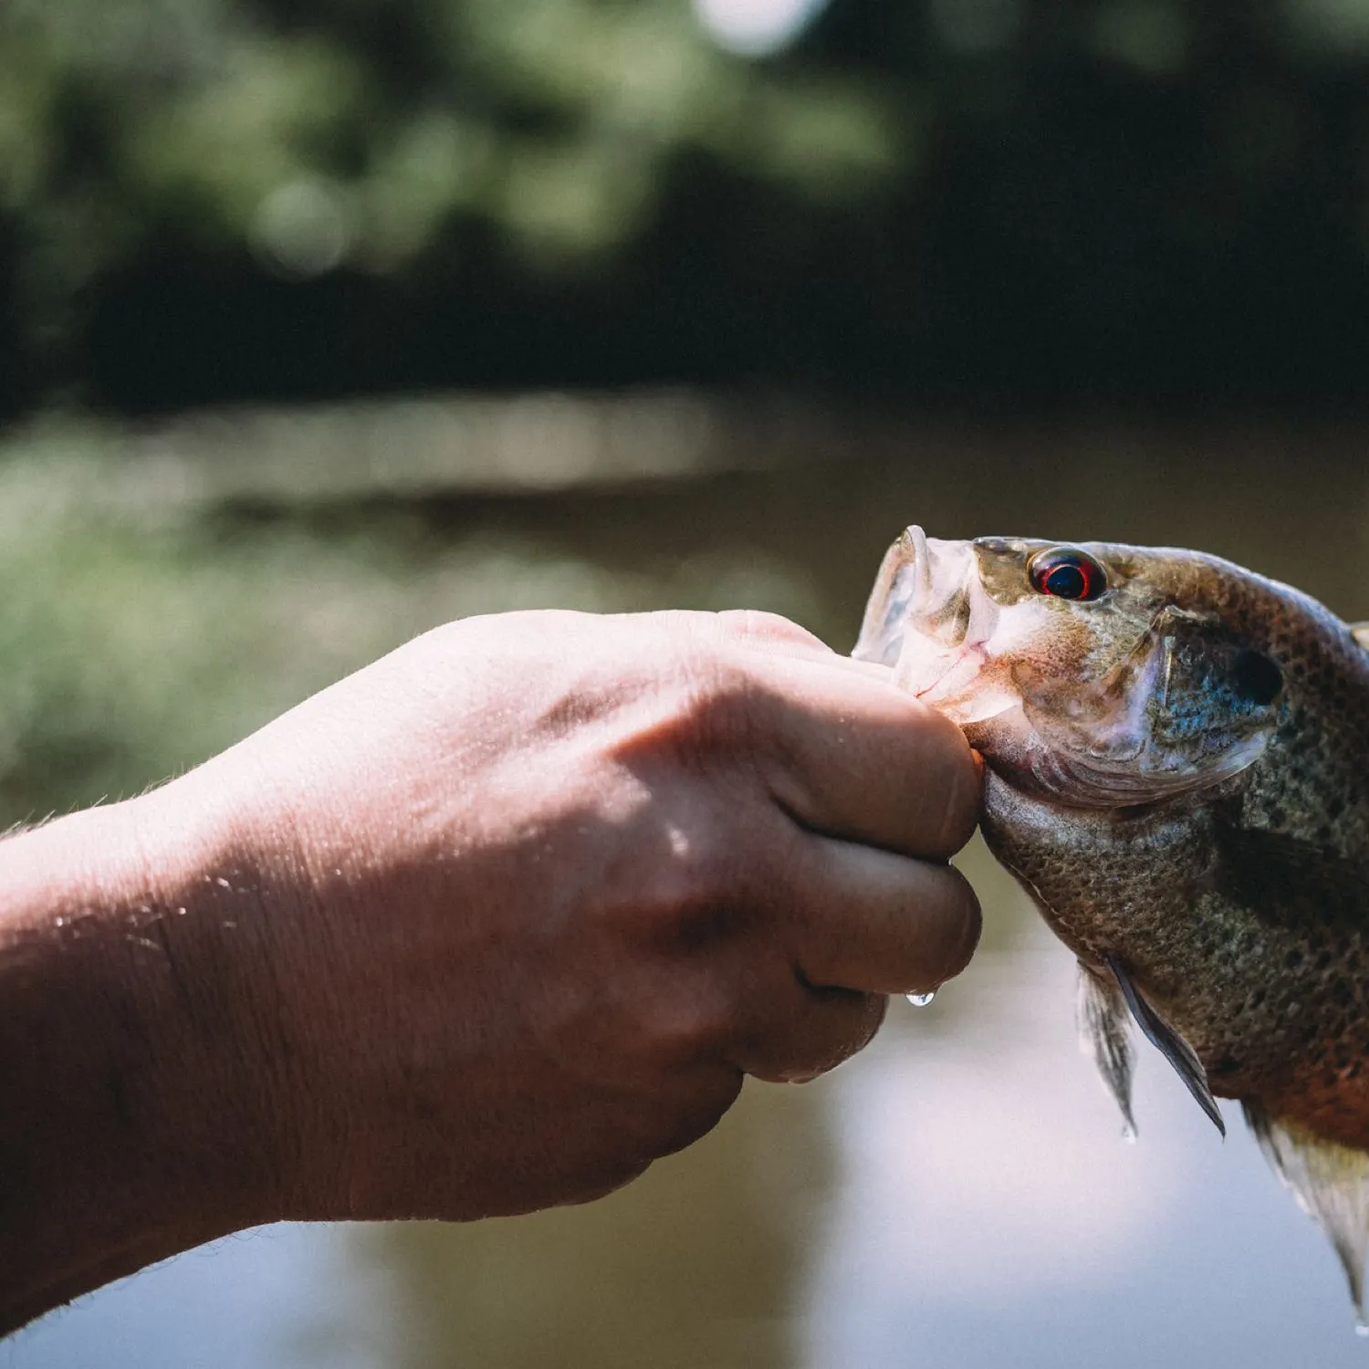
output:
[[[274,1214],[233,867],[174,789],[0,843],[0,1329]]]

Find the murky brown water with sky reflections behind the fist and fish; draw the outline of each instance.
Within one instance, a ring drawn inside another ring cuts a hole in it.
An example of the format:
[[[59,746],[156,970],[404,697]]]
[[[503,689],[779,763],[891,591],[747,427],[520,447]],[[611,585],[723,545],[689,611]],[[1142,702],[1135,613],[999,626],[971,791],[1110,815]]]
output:
[[[381,538],[392,587],[428,616],[444,596],[461,612],[745,602],[845,649],[884,545],[917,520],[1202,546],[1359,617],[1361,448],[1333,431],[942,428],[798,471],[387,498],[303,526],[320,543]],[[216,535],[248,524],[267,541],[301,527],[255,508]],[[438,563],[470,570],[459,600],[434,589],[452,585]],[[828,1079],[749,1086],[630,1190],[471,1227],[249,1233],[48,1318],[0,1347],[0,1369],[1369,1362],[1329,1249],[1236,1117],[1220,1143],[1146,1054],[1140,1142],[1123,1144],[1076,1053],[1068,954],[982,849],[965,865],[987,935],[961,980],[930,1008],[891,1005],[879,1042]]]

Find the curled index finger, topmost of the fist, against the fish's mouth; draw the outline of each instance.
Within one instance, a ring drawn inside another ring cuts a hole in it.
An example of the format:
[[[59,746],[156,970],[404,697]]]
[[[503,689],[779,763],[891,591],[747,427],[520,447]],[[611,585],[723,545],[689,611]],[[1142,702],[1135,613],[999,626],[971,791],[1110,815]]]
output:
[[[846,657],[768,656],[757,672],[756,758],[799,824],[924,860],[949,860],[979,816],[980,768],[961,730]]]

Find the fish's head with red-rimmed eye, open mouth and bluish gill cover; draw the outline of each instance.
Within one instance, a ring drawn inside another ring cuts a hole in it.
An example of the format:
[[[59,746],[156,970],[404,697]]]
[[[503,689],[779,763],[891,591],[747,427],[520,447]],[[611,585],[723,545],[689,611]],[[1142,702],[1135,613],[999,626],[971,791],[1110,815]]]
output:
[[[1242,612],[1250,582],[1192,552],[910,527],[854,654],[894,667],[1014,789],[1150,804],[1239,773],[1277,730],[1283,672]]]

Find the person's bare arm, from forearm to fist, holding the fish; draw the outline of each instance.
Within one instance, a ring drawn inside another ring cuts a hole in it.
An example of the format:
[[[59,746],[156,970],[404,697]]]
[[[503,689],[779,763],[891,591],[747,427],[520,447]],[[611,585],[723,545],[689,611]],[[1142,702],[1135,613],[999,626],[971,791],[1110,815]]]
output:
[[[0,1332],[246,1225],[626,1183],[965,965],[977,804],[783,619],[520,613],[0,842]]]

